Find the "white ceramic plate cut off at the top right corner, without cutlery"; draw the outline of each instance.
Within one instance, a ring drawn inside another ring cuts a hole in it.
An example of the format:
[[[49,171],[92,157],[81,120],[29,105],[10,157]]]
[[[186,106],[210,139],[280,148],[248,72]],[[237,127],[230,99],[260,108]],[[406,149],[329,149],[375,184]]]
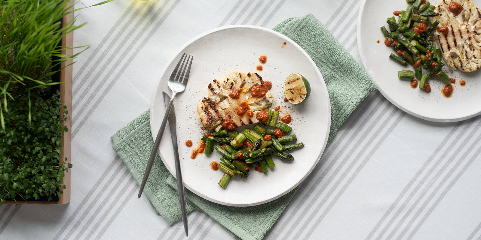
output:
[[[379,91],[397,107],[425,120],[453,122],[479,115],[481,113],[481,105],[478,104],[481,102],[481,84],[479,84],[481,71],[466,73],[447,66],[443,67],[443,71],[456,79],[456,84],[453,85],[453,96],[450,98],[445,98],[441,94],[441,88],[444,85],[441,80],[431,79],[431,93],[427,94],[422,89],[411,88],[409,81],[400,80],[397,77],[397,71],[413,70],[413,68],[412,66],[403,67],[389,59],[389,54],[394,52],[384,45],[384,36],[380,27],[387,28],[386,19],[392,16],[392,12],[405,10],[407,6],[405,1],[365,0],[359,12],[357,23],[359,54],[364,67],[378,85]],[[378,39],[379,44],[376,43]],[[459,80],[465,80],[466,86],[460,86]]]

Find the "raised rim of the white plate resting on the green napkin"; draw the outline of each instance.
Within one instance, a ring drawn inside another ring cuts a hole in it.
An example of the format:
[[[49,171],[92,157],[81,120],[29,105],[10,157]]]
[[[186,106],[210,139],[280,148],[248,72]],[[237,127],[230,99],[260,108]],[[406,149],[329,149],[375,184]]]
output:
[[[328,142],[328,139],[329,139],[329,133],[330,133],[330,127],[331,127],[331,104],[330,104],[330,98],[329,98],[329,91],[327,89],[327,84],[326,82],[324,81],[324,78],[322,76],[322,73],[320,72],[319,68],[317,67],[316,63],[314,62],[314,60],[312,60],[311,56],[309,56],[309,54],[304,50],[304,48],[302,48],[301,46],[299,46],[299,44],[297,44],[296,42],[294,42],[291,38],[289,38],[288,36],[285,36],[285,35],[282,35],[272,29],[269,29],[269,28],[265,28],[265,27],[261,27],[261,26],[255,26],[255,25],[246,25],[246,24],[235,24],[235,25],[226,25],[226,26],[221,26],[221,27],[216,27],[216,28],[213,28],[213,29],[210,29],[208,31],[205,31],[195,37],[193,37],[192,39],[190,39],[187,43],[185,43],[184,45],[182,45],[182,47],[179,48],[178,51],[175,52],[175,54],[173,55],[173,57],[170,59],[170,61],[168,61],[166,64],[165,64],[165,67],[162,71],[162,73],[160,74],[160,77],[159,79],[157,80],[157,83],[155,84],[155,87],[152,91],[152,96],[151,96],[151,104],[150,104],[150,109],[149,109],[149,112],[150,112],[150,125],[152,126],[153,125],[153,108],[154,108],[154,103],[155,103],[155,97],[156,97],[156,94],[159,92],[160,90],[160,84],[162,83],[162,76],[165,75],[165,72],[167,71],[167,69],[169,68],[169,66],[172,64],[172,62],[174,62],[176,59],[175,57],[177,55],[179,55],[180,53],[182,53],[182,51],[187,48],[190,44],[192,44],[193,42],[197,41],[199,38],[201,37],[204,37],[204,36],[207,36],[207,35],[210,35],[210,34],[213,34],[215,32],[219,32],[219,31],[222,31],[222,30],[226,30],[226,29],[230,29],[230,28],[253,28],[253,29],[258,29],[258,30],[262,30],[262,31],[266,31],[268,33],[271,33],[271,34],[274,34],[274,35],[277,35],[283,39],[285,39],[287,42],[289,42],[290,44],[292,44],[294,47],[296,47],[298,50],[301,51],[302,54],[304,54],[305,57],[307,57],[308,61],[311,63],[311,65],[315,68],[315,72],[317,73],[317,77],[319,78],[319,80],[321,81],[321,85],[323,86],[322,87],[322,91],[324,91],[324,94],[325,94],[325,98],[326,99],[323,99],[323,100],[327,100],[327,108],[328,108],[328,122],[327,122],[327,132],[325,132],[325,139],[324,139],[324,143],[323,143],[323,146],[321,148],[321,151],[319,153],[319,155],[316,157],[316,161],[314,162],[312,168],[310,168],[305,174],[304,176],[302,177],[301,180],[299,180],[297,183],[295,183],[294,185],[292,185],[289,189],[287,189],[286,191],[284,192],[281,192],[279,193],[277,196],[274,196],[274,197],[271,197],[271,198],[268,198],[268,199],[264,199],[262,201],[258,201],[258,202],[254,202],[254,203],[245,203],[245,204],[233,204],[233,203],[227,203],[227,202],[221,202],[221,201],[218,201],[218,200],[215,200],[215,199],[212,199],[208,196],[205,196],[204,194],[200,193],[200,192],[197,192],[193,189],[191,189],[189,187],[188,184],[186,184],[184,182],[184,187],[189,189],[190,192],[193,192],[194,194],[202,197],[203,199],[207,200],[207,201],[210,201],[210,202],[213,202],[213,203],[216,203],[216,204],[221,204],[221,205],[227,205],[227,206],[236,206],[236,207],[243,207],[243,206],[255,206],[255,205],[260,205],[260,204],[265,204],[265,203],[268,203],[268,202],[271,202],[271,201],[274,201],[282,196],[284,196],[285,194],[287,194],[288,192],[291,192],[294,188],[298,187],[301,183],[304,182],[304,180],[307,178],[307,176],[309,176],[312,171],[314,170],[314,168],[316,168],[316,166],[319,164],[320,162],[320,158],[322,156],[322,154],[324,153],[324,151],[326,150],[326,147],[327,147],[327,142]],[[170,91],[170,90],[169,90]],[[152,133],[152,139],[155,141],[155,136],[157,135],[157,131],[154,131],[154,129],[151,127],[151,133]],[[178,140],[177,140],[178,141]],[[172,174],[172,176],[174,178],[176,178],[176,174],[175,174],[175,169],[171,169],[169,167],[169,165],[167,164],[167,162],[164,160],[164,157],[162,157],[161,153],[160,153],[160,148],[157,150],[157,153],[159,154],[162,162],[164,163],[165,167],[167,168],[167,170],[169,170],[170,174]],[[177,178],[176,178],[177,179]]]

